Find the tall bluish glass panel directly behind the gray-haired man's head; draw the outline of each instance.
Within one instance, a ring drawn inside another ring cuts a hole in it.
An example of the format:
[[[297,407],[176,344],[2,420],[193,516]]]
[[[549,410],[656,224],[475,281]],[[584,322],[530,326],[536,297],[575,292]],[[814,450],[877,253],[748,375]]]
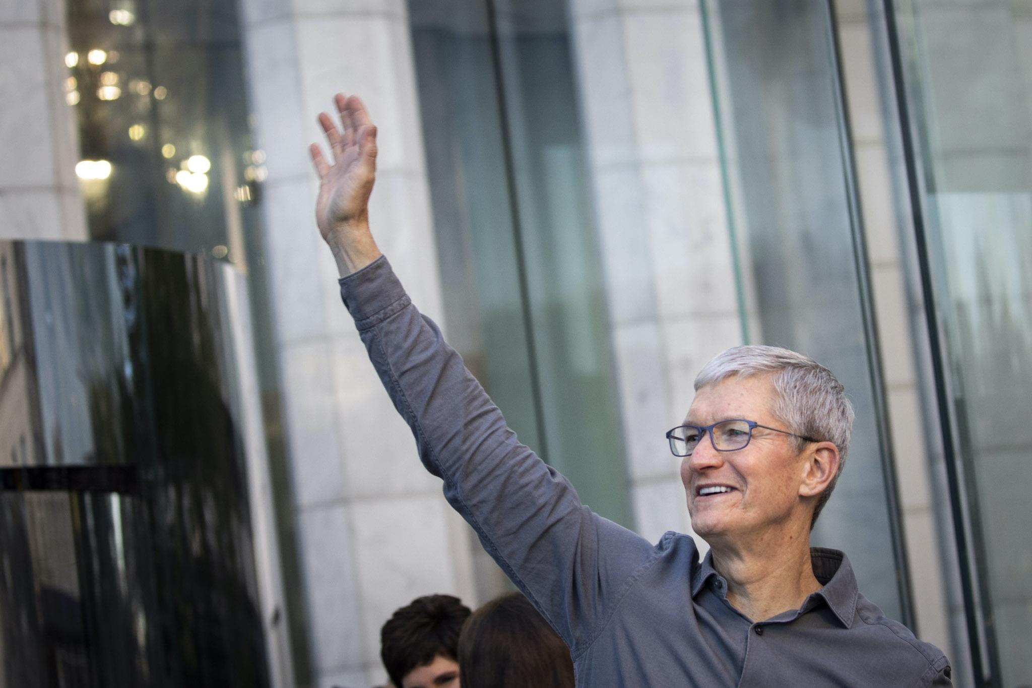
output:
[[[908,621],[828,3],[704,7],[749,338],[827,365],[857,411],[842,479],[813,544],[844,550],[864,594]]]

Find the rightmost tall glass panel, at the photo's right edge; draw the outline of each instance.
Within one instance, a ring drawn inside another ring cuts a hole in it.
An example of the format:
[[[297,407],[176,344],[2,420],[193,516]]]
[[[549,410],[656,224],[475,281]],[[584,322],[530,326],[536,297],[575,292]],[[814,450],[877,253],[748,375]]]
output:
[[[993,685],[1032,682],[1032,1],[895,3]]]

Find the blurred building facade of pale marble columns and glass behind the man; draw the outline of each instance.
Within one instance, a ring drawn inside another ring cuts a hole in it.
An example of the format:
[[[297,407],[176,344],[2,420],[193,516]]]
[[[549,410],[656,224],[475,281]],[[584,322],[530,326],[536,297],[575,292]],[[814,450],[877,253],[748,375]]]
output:
[[[586,503],[690,532],[663,433],[696,372],[802,351],[858,408],[815,544],[958,685],[1032,683],[1032,2],[31,0],[0,4],[0,239],[246,282],[271,684],[383,682],[394,609],[507,585],[340,303],[307,158],[337,91],[380,129],[384,253]],[[0,470],[67,460],[13,429],[47,394],[18,356],[41,277],[17,253]]]

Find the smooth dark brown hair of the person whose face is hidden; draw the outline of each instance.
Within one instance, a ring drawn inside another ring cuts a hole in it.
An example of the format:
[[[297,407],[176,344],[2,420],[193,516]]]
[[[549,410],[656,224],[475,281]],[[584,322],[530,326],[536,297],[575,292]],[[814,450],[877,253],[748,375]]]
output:
[[[462,688],[573,688],[566,643],[521,593],[473,613],[458,638]]]

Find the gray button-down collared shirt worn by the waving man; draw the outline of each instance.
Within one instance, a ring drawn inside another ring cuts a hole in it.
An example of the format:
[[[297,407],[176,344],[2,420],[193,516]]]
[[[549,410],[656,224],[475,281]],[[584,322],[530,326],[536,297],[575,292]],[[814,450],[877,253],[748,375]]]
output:
[[[423,464],[566,641],[578,686],[950,685],[942,652],[860,594],[841,552],[813,549],[824,587],[753,623],[691,537],[651,545],[593,514],[519,443],[385,258],[341,295]]]

